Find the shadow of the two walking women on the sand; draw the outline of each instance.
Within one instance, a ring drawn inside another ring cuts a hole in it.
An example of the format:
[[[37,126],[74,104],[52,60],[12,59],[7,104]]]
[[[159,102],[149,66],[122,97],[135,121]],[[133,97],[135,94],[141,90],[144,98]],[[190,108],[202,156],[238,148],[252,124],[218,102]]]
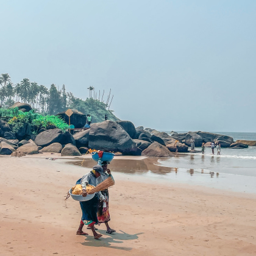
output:
[[[105,230],[98,230],[99,233],[102,235],[108,235],[107,238],[102,236],[99,240],[95,240],[92,235],[86,236],[86,240],[84,243],[81,243],[84,246],[93,246],[93,247],[108,247],[108,248],[113,248],[113,249],[119,249],[119,250],[124,250],[124,251],[130,251],[132,250],[132,247],[124,247],[124,246],[112,246],[112,243],[116,244],[122,244],[124,243],[123,241],[126,240],[137,240],[138,235],[143,234],[141,233],[136,233],[134,235],[129,235],[122,230],[119,230],[121,233],[115,232],[112,234],[108,234],[105,232]]]

